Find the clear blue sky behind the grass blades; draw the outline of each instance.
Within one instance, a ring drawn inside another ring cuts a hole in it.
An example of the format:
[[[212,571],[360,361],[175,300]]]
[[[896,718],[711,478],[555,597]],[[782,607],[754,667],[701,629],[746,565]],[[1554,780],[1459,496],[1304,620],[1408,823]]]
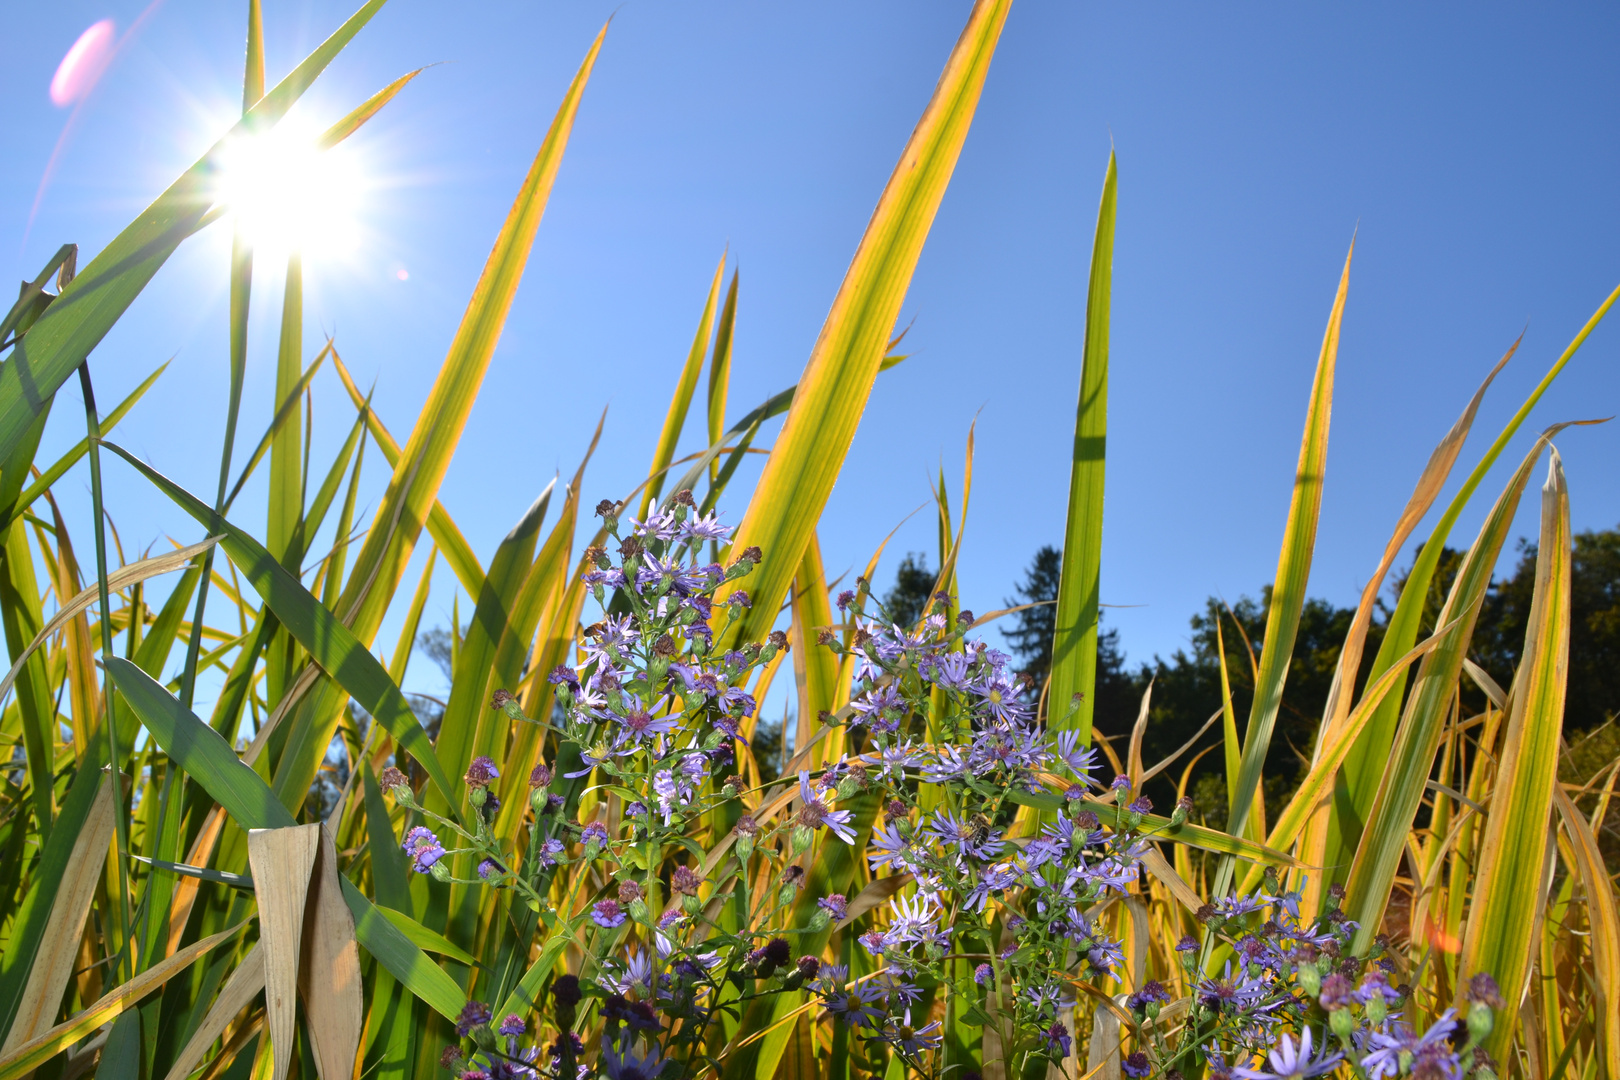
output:
[[[16,277],[65,240],[97,251],[228,125],[245,8],[152,5],[84,104],[26,243],[68,117],[47,96],[58,60],[92,21],[110,16],[123,32],[146,5],[65,0],[13,15],[0,257]],[[355,372],[377,381],[399,434],[569,78],[616,10],[442,492],[484,557],[556,470],[572,471],[604,405],[586,500],[642,474],[727,244],[742,269],[732,416],[795,381],[969,3],[394,0],[311,91],[308,115],[327,123],[397,74],[442,63],[353,141],[376,183],[358,251],[309,270],[306,353],[334,332]],[[271,79],[347,13],[266,0]],[[1312,594],[1353,602],[1429,450],[1497,356],[1528,324],[1452,487],[1620,282],[1617,31],[1612,5],[1019,0],[906,301],[912,358],[880,377],[823,520],[829,573],[859,572],[930,497],[941,461],[959,504],[975,416],[964,602],[1000,606],[1034,549],[1059,542],[1090,230],[1113,144],[1103,601],[1136,607],[1108,625],[1132,661],[1170,653],[1205,596],[1257,594],[1270,580],[1354,232],[1311,580]],[[215,233],[183,248],[92,356],[104,403],[173,358],[117,437],[199,492],[214,484],[227,377]],[[262,274],[249,445],[271,410],[279,293]],[[1617,343],[1614,324],[1592,335],[1513,461],[1534,429],[1620,411]],[[316,387],[319,457],[352,411],[335,379]],[[81,434],[76,405],[58,411],[49,447]],[[1614,526],[1620,423],[1560,445],[1576,528]],[[1455,539],[1473,539],[1505,471]],[[83,507],[86,483],[58,489]],[[377,471],[373,504],[381,483]],[[258,525],[262,499],[249,502],[243,520]],[[128,547],[165,529],[196,536],[128,473],[110,504]],[[1534,529],[1533,504],[1520,533]],[[731,520],[740,513],[734,500]],[[881,580],[906,549],[932,562],[927,513],[901,529]],[[442,586],[429,622],[447,620],[449,576]]]

